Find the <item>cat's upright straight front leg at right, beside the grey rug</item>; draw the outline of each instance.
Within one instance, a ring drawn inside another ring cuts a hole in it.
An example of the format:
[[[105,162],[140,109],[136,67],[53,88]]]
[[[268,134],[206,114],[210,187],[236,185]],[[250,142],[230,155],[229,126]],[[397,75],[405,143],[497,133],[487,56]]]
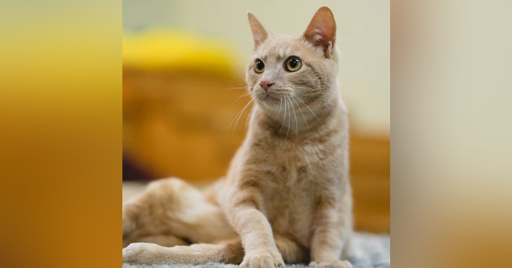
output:
[[[309,265],[352,268],[347,260],[340,260],[344,249],[344,237],[350,235],[351,196],[344,200],[337,197],[321,197],[317,202],[311,239],[311,262]]]

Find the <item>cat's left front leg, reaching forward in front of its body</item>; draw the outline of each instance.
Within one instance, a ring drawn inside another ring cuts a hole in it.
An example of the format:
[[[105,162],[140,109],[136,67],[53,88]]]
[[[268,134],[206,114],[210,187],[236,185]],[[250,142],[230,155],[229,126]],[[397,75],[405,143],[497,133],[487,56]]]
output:
[[[246,184],[247,185],[247,184]],[[229,200],[227,215],[240,235],[245,256],[242,267],[282,268],[284,261],[261,208],[261,196],[253,187],[239,189]]]

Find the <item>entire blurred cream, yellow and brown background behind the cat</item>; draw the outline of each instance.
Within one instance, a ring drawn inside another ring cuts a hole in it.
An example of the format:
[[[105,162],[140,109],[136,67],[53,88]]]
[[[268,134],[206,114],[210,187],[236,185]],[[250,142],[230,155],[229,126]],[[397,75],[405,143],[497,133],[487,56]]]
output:
[[[272,32],[301,33],[328,6],[349,108],[355,228],[390,232],[389,1],[123,1],[123,200],[147,182],[199,187],[225,174],[244,139],[252,11]]]

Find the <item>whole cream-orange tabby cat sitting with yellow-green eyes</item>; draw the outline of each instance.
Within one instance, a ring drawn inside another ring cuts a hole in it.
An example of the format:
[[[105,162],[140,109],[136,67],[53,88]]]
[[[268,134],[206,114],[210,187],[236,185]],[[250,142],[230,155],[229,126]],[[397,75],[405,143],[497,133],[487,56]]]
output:
[[[248,18],[255,105],[246,139],[205,192],[168,178],[125,202],[123,262],[352,267],[340,259],[352,233],[352,190],[334,16],[322,7],[290,36]]]

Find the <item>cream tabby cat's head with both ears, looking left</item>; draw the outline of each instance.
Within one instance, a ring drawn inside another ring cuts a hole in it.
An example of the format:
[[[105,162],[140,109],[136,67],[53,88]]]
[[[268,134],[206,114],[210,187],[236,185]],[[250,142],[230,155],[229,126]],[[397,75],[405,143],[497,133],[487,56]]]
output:
[[[338,71],[336,23],[331,10],[316,11],[302,34],[269,32],[248,13],[254,53],[246,79],[252,97],[270,112],[288,106],[313,107],[332,98]]]

